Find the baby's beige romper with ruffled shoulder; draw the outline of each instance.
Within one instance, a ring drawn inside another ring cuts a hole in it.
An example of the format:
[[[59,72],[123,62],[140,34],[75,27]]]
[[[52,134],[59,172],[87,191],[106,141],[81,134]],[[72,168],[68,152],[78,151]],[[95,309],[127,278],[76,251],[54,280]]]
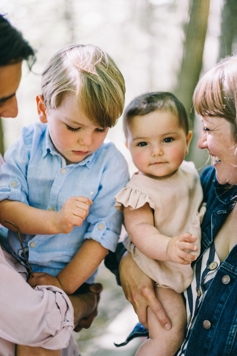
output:
[[[115,207],[120,211],[123,211],[123,206],[138,209],[149,203],[154,210],[154,225],[160,234],[174,237],[189,232],[198,238],[194,243],[197,250],[189,252],[199,256],[200,224],[206,208],[204,204],[201,205],[203,191],[193,162],[183,161],[169,178],[150,178],[140,172],[134,174],[126,187],[115,196],[115,200]],[[192,282],[193,270],[190,265],[153,260],[141,253],[128,236],[124,245],[139,268],[156,282],[155,286],[172,288],[181,293]]]

